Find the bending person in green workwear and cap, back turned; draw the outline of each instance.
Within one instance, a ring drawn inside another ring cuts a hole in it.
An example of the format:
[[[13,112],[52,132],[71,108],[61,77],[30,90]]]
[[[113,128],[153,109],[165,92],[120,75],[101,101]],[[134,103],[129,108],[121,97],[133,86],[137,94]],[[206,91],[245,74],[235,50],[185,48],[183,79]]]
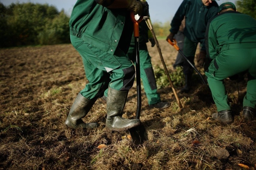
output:
[[[233,122],[224,79],[247,71],[242,115],[252,120],[256,117],[256,21],[237,12],[232,2],[221,4],[218,13],[206,28],[206,52],[212,62],[205,74],[218,111],[212,118]]]

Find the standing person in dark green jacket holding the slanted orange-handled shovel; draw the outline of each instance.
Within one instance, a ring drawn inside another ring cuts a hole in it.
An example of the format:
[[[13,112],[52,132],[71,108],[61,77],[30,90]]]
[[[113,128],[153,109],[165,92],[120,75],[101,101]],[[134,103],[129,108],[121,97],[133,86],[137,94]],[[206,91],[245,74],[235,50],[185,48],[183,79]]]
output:
[[[172,40],[174,35],[177,34],[181,21],[185,17],[184,28],[184,46],[183,53],[187,59],[194,65],[195,53],[197,44],[200,42],[201,49],[199,58],[197,59],[198,65],[203,67],[206,59],[205,50],[205,30],[208,20],[218,14],[218,4],[213,0],[183,0],[178,10],[176,11],[172,22],[170,34],[166,40]],[[192,86],[192,74],[194,69],[190,66],[187,60],[183,62],[183,72],[185,75],[185,86],[181,92],[189,92]]]

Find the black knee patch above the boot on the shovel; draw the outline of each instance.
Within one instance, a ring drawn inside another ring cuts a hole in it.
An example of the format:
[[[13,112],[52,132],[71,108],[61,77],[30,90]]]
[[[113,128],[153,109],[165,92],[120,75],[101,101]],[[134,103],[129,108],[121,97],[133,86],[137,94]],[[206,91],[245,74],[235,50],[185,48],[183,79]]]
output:
[[[129,91],[133,86],[133,82],[135,79],[135,68],[134,66],[130,66],[128,68],[123,69],[124,79],[123,79],[123,87],[120,91]]]

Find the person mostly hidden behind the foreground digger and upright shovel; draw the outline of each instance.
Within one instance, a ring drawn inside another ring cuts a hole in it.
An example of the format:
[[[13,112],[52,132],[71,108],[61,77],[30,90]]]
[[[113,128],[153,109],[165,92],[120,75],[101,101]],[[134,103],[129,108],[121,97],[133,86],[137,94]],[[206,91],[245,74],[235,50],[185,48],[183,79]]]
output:
[[[142,79],[146,96],[148,98],[148,106],[150,108],[165,109],[170,106],[170,103],[162,102],[160,99],[160,95],[157,93],[157,84],[156,84],[154,70],[151,63],[151,56],[148,53],[148,48],[146,44],[148,40],[150,40],[151,47],[154,47],[155,42],[147,26],[146,19],[148,19],[148,16],[144,17],[142,22],[139,23],[140,76]],[[127,56],[135,64],[136,49],[135,49],[134,38],[132,38]],[[108,94],[108,90],[105,91],[104,93],[105,97],[103,99],[106,99],[107,94]]]

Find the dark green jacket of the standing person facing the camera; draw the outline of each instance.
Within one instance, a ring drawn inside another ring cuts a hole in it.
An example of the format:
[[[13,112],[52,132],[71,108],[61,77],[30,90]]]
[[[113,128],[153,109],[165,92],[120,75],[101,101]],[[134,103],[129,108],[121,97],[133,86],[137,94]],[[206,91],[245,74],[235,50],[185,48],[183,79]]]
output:
[[[172,19],[170,32],[174,34],[178,32],[185,16],[184,35],[193,42],[204,42],[207,22],[217,14],[218,4],[216,1],[205,6],[202,0],[184,0]],[[204,50],[204,43],[202,45],[202,50]]]

